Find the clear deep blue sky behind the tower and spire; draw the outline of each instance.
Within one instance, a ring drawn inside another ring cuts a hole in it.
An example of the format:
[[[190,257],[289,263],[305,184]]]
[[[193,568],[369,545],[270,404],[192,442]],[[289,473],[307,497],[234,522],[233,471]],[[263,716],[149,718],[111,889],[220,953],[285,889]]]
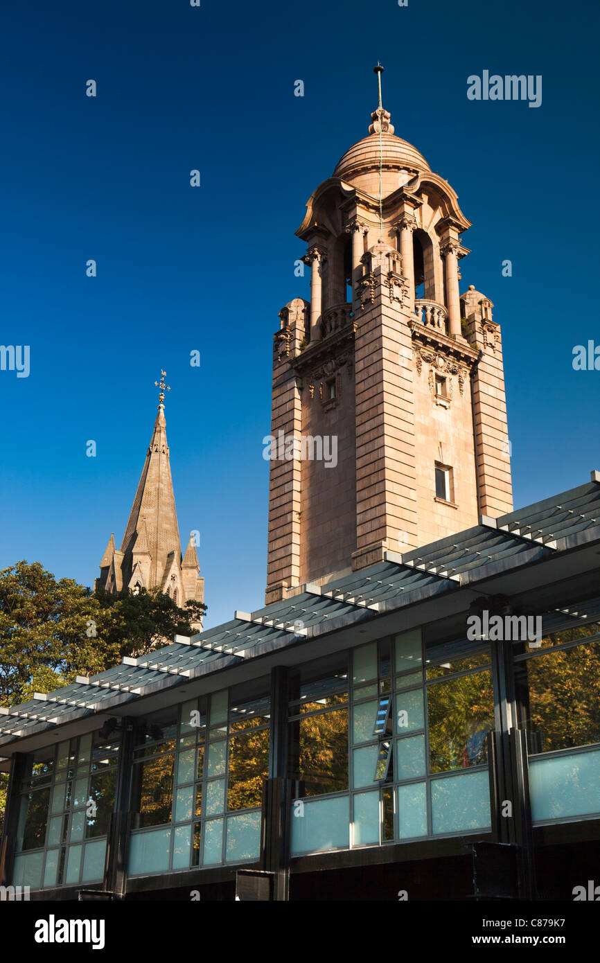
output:
[[[92,584],[109,535],[122,538],[162,366],[207,625],[262,604],[272,336],[281,306],[307,295],[294,231],[367,133],[378,60],[396,133],[473,221],[461,290],[475,284],[502,325],[515,506],[588,481],[600,372],[571,361],[600,344],[597,11],[5,0],[0,343],[30,345],[31,374],[0,372],[0,567],[39,560]],[[468,100],[484,69],[541,74],[541,107]]]

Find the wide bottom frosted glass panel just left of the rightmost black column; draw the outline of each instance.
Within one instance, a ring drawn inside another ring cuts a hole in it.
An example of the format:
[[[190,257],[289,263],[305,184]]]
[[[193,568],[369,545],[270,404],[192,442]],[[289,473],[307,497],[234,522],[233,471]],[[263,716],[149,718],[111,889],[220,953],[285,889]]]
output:
[[[434,833],[486,829],[490,824],[487,771],[432,780],[431,819]]]

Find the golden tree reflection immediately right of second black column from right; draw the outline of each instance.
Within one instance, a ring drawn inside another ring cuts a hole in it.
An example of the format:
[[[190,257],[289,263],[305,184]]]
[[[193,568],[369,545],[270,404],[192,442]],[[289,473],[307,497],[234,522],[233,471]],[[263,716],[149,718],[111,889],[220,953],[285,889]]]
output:
[[[298,743],[298,771],[306,795],[337,793],[348,789],[348,709],[319,716],[304,716],[292,723]],[[294,751],[293,751],[294,755]]]

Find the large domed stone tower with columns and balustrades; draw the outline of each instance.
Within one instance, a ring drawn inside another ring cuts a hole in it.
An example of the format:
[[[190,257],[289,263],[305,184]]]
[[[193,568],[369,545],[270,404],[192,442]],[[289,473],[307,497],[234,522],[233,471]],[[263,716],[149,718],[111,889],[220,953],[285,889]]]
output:
[[[371,117],[306,204],[311,299],[274,334],[267,603],[512,508],[500,326],[459,295],[470,221]]]

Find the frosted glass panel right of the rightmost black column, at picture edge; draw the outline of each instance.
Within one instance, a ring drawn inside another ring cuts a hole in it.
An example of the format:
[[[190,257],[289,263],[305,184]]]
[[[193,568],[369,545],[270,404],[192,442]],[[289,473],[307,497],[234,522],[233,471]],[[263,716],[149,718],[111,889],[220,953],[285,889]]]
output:
[[[600,813],[600,750],[531,760],[529,781],[535,821]]]

